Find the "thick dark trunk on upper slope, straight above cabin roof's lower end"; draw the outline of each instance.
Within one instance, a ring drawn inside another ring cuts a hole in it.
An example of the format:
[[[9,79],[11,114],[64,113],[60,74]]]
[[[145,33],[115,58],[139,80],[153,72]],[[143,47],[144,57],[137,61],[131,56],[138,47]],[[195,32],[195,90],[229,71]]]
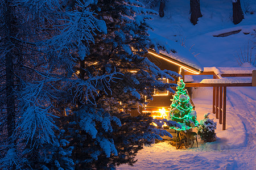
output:
[[[190,21],[192,24],[197,24],[198,18],[202,17],[200,10],[200,0],[190,0],[190,11],[191,11],[191,18]]]

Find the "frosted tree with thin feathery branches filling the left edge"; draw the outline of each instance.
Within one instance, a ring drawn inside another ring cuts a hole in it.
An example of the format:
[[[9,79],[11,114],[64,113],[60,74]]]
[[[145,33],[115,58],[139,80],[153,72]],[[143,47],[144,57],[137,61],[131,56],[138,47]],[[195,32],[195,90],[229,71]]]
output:
[[[115,74],[83,81],[75,74],[77,59],[89,52],[93,31],[100,28],[90,3],[1,1],[1,168],[73,167],[72,160],[60,161],[70,148],[58,148],[64,145],[54,119],[76,105],[73,96],[93,98]]]

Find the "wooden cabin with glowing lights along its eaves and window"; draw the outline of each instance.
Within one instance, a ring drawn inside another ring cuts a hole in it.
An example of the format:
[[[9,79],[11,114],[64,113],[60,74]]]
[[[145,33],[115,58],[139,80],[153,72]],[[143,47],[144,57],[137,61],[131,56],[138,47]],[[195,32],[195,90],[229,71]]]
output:
[[[146,57],[156,66],[158,66],[161,70],[171,70],[179,73],[183,76],[184,79],[184,71],[188,71],[193,74],[200,74],[203,72],[203,67],[197,61],[197,59],[183,46],[180,46],[180,51],[176,51],[176,53],[170,52],[166,53],[160,51],[156,53],[155,50],[148,49],[148,53]],[[181,51],[182,50],[182,51]],[[175,82],[170,82],[168,79],[163,79],[163,82],[166,83],[177,83],[177,79]],[[176,90],[176,88],[173,88]],[[144,108],[140,108],[139,112],[142,113],[151,113],[151,116],[154,118],[166,118],[169,112],[169,108],[171,105],[172,93],[159,92],[154,91],[153,100],[150,101]],[[146,96],[145,96],[145,100]],[[134,108],[134,111],[131,111],[132,115],[137,115],[137,108]]]

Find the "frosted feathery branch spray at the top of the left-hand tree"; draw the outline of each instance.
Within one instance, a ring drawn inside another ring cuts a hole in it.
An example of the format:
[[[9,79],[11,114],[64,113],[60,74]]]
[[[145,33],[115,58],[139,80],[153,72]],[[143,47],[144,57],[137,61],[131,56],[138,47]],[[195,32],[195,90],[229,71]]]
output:
[[[93,12],[84,7],[82,11],[77,7],[75,11],[65,12],[65,18],[59,19],[62,24],[57,25],[60,34],[44,43],[54,46],[55,51],[77,49],[79,57],[84,59],[89,54],[89,43],[94,42],[94,31],[97,29],[106,33],[105,23],[93,15]]]

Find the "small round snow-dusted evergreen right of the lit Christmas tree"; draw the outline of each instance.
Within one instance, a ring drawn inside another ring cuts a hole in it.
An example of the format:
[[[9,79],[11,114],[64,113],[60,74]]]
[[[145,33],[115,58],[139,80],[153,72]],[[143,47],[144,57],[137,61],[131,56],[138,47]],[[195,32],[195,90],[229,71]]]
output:
[[[210,113],[204,114],[204,119],[200,120],[199,126],[197,127],[197,134],[204,142],[216,141],[215,130],[217,128],[217,122],[209,118]]]

